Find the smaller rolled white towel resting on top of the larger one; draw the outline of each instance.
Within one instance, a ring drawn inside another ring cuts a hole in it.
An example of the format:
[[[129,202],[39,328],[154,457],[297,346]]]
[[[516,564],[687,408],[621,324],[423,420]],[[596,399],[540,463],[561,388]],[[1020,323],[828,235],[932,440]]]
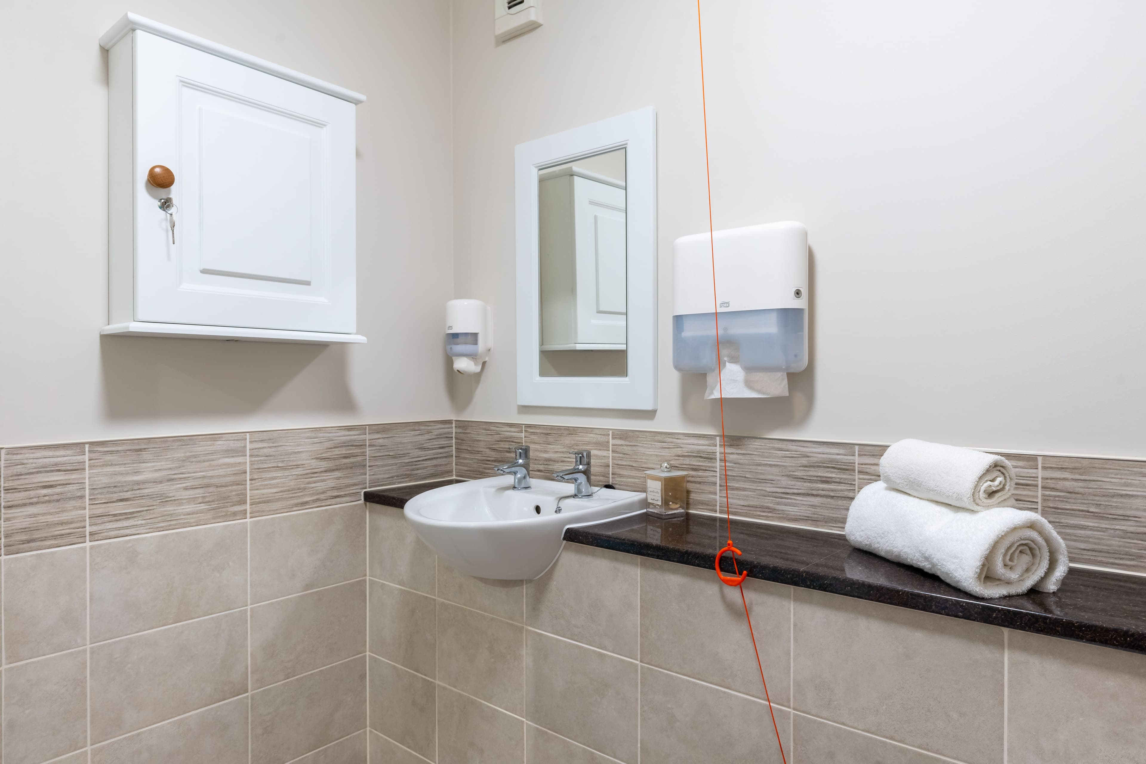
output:
[[[1005,506],[1014,490],[1014,470],[1002,456],[910,438],[884,452],[879,476],[912,496],[976,512]]]

